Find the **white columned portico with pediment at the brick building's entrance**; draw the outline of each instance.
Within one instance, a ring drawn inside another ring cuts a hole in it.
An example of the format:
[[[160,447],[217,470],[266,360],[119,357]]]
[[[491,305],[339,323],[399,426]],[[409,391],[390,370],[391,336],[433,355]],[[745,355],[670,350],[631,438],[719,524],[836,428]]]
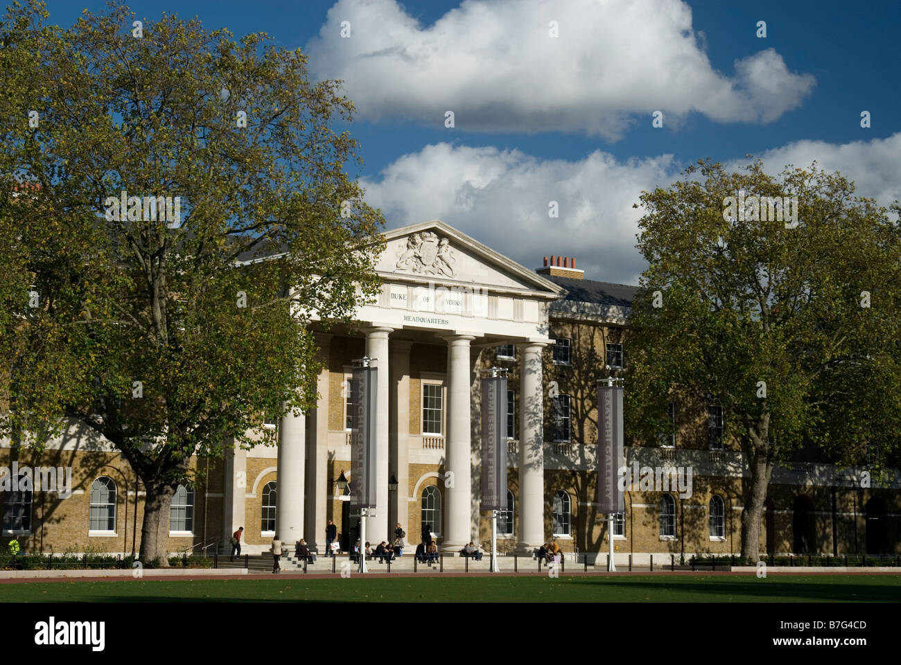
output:
[[[345,539],[356,537],[356,517],[344,506],[349,497],[337,496],[334,481],[343,472],[352,490],[347,378],[350,360],[365,353],[379,369],[369,541],[393,537],[397,522],[411,544],[427,523],[444,550],[478,540],[478,371],[494,363],[498,345],[512,344],[520,377],[509,385],[520,441],[509,461],[519,468],[515,538],[517,549],[537,547],[545,540],[541,353],[552,343],[549,303],[561,289],[439,221],[385,235],[381,293],[359,306],[359,325],[335,326],[323,338],[326,376],[316,409],[280,423],[279,536],[292,542],[303,533],[308,543],[323,543],[332,518]],[[389,491],[391,479],[396,491]]]

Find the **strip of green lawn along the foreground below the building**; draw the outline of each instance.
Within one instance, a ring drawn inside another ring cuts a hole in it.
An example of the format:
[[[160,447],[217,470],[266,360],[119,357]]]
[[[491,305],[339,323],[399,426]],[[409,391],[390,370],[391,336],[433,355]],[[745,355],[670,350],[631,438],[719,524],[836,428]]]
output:
[[[0,586],[5,602],[898,602],[901,576],[101,580]]]

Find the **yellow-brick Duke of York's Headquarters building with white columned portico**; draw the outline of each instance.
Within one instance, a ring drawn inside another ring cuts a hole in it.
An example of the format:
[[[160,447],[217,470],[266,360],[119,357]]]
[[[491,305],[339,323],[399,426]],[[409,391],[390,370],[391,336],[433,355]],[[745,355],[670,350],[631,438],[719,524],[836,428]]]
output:
[[[542,267],[527,269],[440,221],[385,235],[376,302],[359,307],[353,327],[325,332],[310,323],[323,360],[316,408],[261,424],[278,428],[278,446],[194,460],[197,482],[179,487],[171,508],[170,551],[227,551],[243,526],[245,551],[266,551],[278,530],[283,541],[304,537],[322,552],[328,520],[342,548],[350,546],[359,518],[339,478],[352,489],[350,373],[364,355],[378,366],[378,507],[369,541],[387,540],[399,522],[413,544],[425,524],[447,551],[488,542],[490,515],[478,509],[479,378],[501,367],[509,469],[499,548],[531,551],[554,538],[566,551],[605,551],[605,515],[595,506],[596,381],[607,376],[605,365],[627,362],[636,287],[585,279],[569,258],[543,257]],[[614,526],[617,556],[640,563],[651,554],[738,552],[750,477],[739,447],[724,437],[723,410],[669,409],[669,431],[627,441],[623,464],[690,467],[691,492],[630,487]],[[13,462],[71,467],[72,496],[0,492],[5,536],[43,552],[140,547],[143,492],[108,442],[77,426],[41,456],[0,442],[0,466]],[[901,486],[861,487],[863,470],[863,460],[837,469],[814,459],[774,471],[760,550],[899,551]]]

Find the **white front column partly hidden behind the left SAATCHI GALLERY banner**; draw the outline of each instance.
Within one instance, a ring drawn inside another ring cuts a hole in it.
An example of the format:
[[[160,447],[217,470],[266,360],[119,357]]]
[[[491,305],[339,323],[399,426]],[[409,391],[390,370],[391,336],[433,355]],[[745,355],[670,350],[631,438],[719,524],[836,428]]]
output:
[[[387,539],[388,529],[388,452],[390,441],[388,439],[388,373],[390,361],[388,359],[388,333],[394,328],[387,326],[373,326],[365,328],[366,355],[376,360],[378,367],[378,397],[376,404],[376,515],[366,520],[366,538],[369,542],[380,542]],[[353,478],[350,479],[353,482]]]

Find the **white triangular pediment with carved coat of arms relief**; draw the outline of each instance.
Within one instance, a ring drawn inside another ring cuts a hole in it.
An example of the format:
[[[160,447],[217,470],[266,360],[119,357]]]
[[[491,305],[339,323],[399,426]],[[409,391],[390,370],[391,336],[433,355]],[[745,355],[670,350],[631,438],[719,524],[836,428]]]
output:
[[[383,233],[377,270],[391,282],[489,287],[556,297],[562,288],[440,220]]]

